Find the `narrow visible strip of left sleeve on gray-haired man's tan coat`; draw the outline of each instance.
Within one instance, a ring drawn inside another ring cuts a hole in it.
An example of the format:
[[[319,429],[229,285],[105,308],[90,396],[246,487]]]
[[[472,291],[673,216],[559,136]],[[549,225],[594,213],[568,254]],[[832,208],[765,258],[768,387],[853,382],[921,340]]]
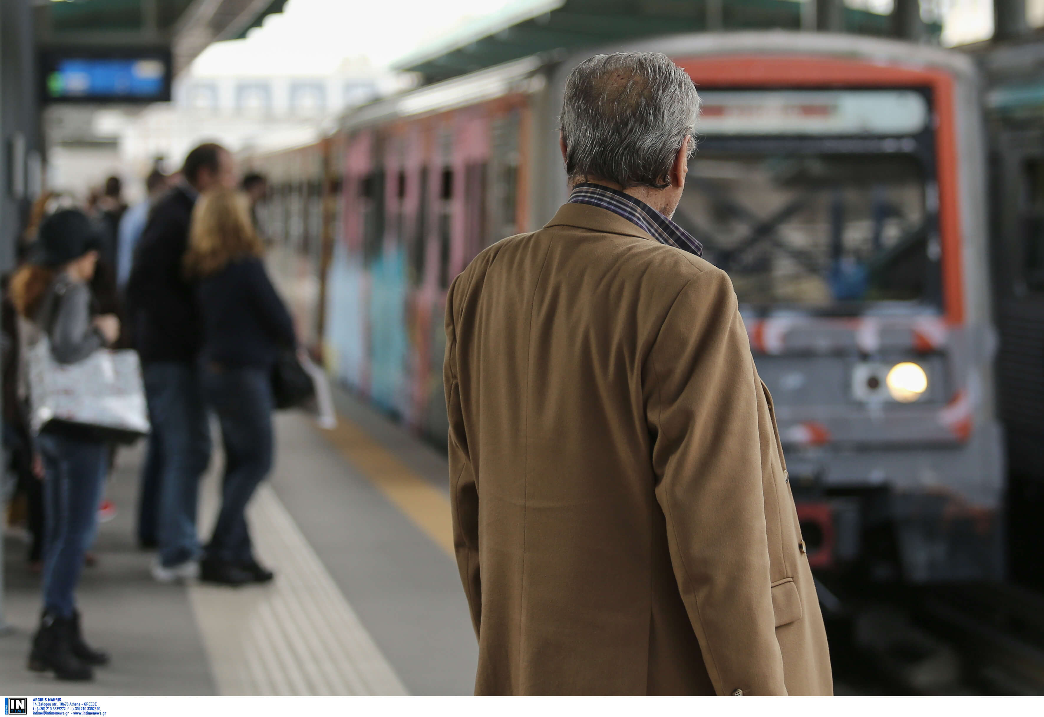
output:
[[[461,274],[462,276],[462,274]],[[482,579],[478,561],[478,485],[465,428],[457,375],[457,335],[454,298],[460,289],[460,277],[454,280],[446,296],[446,360],[443,385],[449,415],[450,509],[453,516],[453,548],[460,581],[468,596],[472,626],[478,636],[482,619]],[[459,298],[459,297],[457,297]]]

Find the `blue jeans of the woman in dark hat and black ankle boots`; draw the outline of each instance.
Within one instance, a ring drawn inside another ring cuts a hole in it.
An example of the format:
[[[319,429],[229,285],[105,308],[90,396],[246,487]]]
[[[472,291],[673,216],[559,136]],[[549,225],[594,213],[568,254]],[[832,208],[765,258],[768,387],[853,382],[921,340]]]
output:
[[[98,520],[109,445],[44,432],[40,452],[45,471],[44,608],[69,618],[76,610],[73,593]]]

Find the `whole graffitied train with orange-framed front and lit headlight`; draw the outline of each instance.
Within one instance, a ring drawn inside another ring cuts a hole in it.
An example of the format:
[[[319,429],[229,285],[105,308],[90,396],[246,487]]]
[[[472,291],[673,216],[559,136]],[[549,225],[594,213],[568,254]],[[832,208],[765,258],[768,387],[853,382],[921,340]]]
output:
[[[662,51],[703,98],[675,221],[732,278],[821,574],[1006,574],[981,71],[850,34],[688,33],[535,55],[381,99],[250,154],[299,329],[333,379],[446,440],[443,311],[481,249],[566,199],[565,78]]]

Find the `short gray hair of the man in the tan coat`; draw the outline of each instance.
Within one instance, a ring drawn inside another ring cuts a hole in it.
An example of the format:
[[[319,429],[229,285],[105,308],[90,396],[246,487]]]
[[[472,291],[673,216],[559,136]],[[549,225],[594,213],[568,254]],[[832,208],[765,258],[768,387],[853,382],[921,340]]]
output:
[[[663,189],[698,116],[692,79],[662,52],[595,55],[566,79],[566,172],[571,180],[595,176],[624,188]],[[690,142],[690,156],[694,149]]]

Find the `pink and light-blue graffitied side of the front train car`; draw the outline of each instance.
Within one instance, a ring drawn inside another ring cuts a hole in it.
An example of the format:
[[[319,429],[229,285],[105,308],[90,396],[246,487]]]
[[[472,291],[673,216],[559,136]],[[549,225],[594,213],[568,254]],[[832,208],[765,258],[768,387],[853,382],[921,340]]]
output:
[[[521,124],[520,103],[505,98],[348,139],[327,364],[436,440],[447,429],[446,290],[478,252],[519,230]]]

